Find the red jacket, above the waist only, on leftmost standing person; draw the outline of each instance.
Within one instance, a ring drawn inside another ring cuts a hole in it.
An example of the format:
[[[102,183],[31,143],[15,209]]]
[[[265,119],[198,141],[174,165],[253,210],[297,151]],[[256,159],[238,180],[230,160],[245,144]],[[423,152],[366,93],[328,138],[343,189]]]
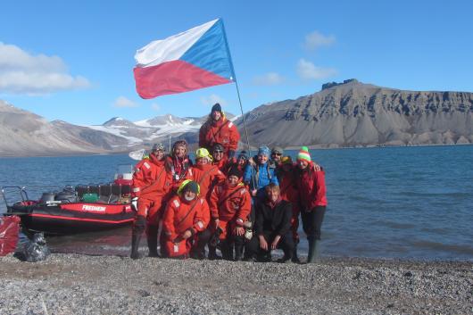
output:
[[[131,187],[133,196],[154,199],[156,196],[166,195],[170,188],[171,182],[164,169],[164,162],[158,161],[151,154],[149,159],[137,163]]]

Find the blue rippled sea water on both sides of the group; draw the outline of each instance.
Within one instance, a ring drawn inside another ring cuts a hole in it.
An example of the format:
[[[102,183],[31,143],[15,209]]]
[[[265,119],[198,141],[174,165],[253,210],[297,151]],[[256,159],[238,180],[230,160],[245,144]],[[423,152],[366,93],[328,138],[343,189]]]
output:
[[[311,156],[326,172],[323,255],[473,260],[473,145],[311,150]],[[65,185],[108,183],[120,164],[134,163],[128,155],[1,158],[0,186],[26,186],[29,198],[38,199]],[[48,242],[55,252],[127,254],[129,234],[120,228]]]

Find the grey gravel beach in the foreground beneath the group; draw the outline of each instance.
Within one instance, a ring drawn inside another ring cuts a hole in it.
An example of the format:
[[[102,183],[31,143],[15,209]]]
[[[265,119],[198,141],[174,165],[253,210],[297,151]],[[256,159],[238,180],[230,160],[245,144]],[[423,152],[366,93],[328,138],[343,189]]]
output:
[[[473,314],[473,263],[0,257],[0,314]]]

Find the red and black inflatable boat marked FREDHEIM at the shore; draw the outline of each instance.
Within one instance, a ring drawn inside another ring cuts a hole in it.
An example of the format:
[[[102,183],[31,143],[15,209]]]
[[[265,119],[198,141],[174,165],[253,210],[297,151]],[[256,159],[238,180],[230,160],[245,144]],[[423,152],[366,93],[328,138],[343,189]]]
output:
[[[10,203],[6,191],[16,190],[21,200]],[[27,231],[67,235],[110,228],[133,222],[129,185],[107,184],[65,187],[59,193],[44,193],[30,200],[25,187],[2,187],[5,215],[17,215]]]

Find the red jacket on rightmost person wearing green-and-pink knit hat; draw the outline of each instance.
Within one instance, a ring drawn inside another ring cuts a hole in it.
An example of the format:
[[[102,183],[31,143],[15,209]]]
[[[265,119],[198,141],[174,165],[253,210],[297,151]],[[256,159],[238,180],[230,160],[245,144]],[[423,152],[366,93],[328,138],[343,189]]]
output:
[[[296,170],[295,186],[299,191],[304,210],[311,210],[318,205],[327,205],[325,172],[313,170],[309,164],[305,170]]]

